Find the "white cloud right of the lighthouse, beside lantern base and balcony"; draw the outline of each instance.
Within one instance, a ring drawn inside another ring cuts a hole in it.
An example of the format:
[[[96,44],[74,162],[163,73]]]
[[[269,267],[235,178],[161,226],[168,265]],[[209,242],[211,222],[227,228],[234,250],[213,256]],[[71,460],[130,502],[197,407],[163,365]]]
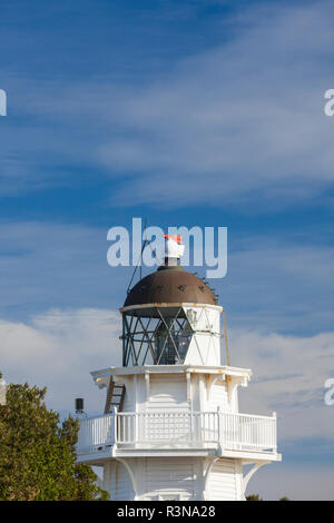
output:
[[[277,411],[285,441],[333,441],[334,417],[324,404],[324,383],[334,377],[334,333],[311,337],[230,333],[232,363],[250,366],[254,382],[242,392],[244,408]]]

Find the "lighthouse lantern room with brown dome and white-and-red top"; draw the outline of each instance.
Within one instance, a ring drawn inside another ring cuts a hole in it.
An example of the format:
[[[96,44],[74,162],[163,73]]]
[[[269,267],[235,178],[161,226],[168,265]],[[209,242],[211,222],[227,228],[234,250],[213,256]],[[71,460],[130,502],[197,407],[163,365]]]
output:
[[[220,365],[220,313],[207,284],[178,263],[167,236],[164,264],[129,292],[122,314],[122,365]]]

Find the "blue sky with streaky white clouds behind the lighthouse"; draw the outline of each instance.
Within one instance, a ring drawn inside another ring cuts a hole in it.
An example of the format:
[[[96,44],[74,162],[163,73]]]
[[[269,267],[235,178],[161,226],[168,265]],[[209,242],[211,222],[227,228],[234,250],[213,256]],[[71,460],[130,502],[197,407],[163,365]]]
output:
[[[6,377],[96,412],[88,371],[120,352],[130,277],[107,265],[108,229],[226,226],[213,284],[233,363],[254,371],[245,409],[277,409],[286,450],[249,489],[333,499],[333,4],[3,0],[0,13]]]

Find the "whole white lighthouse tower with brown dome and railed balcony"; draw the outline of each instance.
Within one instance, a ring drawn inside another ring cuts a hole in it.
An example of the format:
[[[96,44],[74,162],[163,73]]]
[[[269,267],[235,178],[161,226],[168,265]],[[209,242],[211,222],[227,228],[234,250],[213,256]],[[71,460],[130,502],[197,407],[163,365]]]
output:
[[[239,413],[252,372],[224,361],[223,307],[181,253],[167,238],[163,265],[129,292],[122,366],[91,373],[105,413],[81,422],[78,461],[102,467],[115,501],[244,500],[254,472],[281,460],[275,414]]]

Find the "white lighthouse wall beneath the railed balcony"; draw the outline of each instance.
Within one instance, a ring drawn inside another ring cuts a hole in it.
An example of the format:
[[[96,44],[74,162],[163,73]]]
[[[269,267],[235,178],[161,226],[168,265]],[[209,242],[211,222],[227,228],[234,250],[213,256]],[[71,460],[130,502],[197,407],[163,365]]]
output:
[[[138,457],[128,461],[136,478],[136,500],[202,500],[204,458]],[[135,499],[131,476],[126,466],[115,460],[105,464],[104,489],[115,501]],[[243,474],[238,460],[215,462],[206,484],[206,500],[243,500]]]

